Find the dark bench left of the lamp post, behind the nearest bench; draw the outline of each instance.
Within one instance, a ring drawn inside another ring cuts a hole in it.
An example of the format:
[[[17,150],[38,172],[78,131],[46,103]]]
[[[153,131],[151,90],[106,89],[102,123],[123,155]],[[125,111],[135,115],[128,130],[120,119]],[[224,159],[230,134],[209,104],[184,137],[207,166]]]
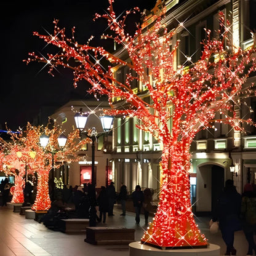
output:
[[[57,226],[63,233],[86,233],[89,218],[60,218]]]

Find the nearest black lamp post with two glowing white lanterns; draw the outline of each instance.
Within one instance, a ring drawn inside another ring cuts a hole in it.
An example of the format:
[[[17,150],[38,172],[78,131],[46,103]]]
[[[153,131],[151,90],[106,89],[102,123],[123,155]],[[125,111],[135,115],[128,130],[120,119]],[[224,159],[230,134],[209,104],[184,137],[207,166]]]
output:
[[[88,113],[83,113],[82,108],[80,108],[80,111],[74,115],[74,121],[76,122],[76,127],[79,129],[80,134],[86,135],[86,137],[90,138],[92,140],[92,182],[89,186],[88,196],[90,201],[90,209],[89,209],[89,226],[96,226],[96,195],[95,195],[95,140],[97,140],[98,137],[101,135],[107,134],[111,127],[113,122],[113,116],[100,116],[100,121],[102,123],[102,128],[104,132],[101,134],[98,134],[95,127],[92,127],[92,129],[85,130],[87,118],[89,117]]]

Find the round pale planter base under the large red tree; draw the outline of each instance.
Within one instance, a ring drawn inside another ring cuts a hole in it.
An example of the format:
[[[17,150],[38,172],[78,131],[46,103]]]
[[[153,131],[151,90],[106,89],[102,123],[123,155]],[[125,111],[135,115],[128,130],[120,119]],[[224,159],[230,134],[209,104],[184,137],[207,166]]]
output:
[[[131,242],[129,252],[130,256],[219,256],[220,246],[209,244],[207,248],[162,250],[141,242]]]

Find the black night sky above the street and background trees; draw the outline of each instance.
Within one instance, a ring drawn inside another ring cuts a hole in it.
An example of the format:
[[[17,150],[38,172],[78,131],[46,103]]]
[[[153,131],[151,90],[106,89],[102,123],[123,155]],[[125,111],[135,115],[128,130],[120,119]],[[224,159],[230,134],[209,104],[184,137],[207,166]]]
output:
[[[140,10],[152,9],[156,0],[116,0],[114,9],[117,14],[123,10],[138,6]],[[107,27],[104,19],[93,22],[94,14],[103,14],[108,7],[107,0],[45,0],[45,1],[4,1],[1,2],[1,92],[0,92],[0,129],[16,130],[25,127],[38,114],[41,106],[62,106],[72,98],[88,97],[86,82],[73,87],[70,70],[60,70],[50,76],[48,68],[41,68],[43,63],[23,62],[28,52],[46,55],[53,52],[42,39],[33,36],[33,31],[40,34],[52,33],[54,18],[59,20],[60,28],[66,28],[70,35],[76,27],[75,37],[82,44],[91,35],[95,36],[95,46],[105,44],[100,40]],[[136,22],[139,22],[137,15]],[[134,25],[130,22],[130,25]],[[112,43],[111,43],[112,44]],[[108,47],[111,44],[107,44]]]

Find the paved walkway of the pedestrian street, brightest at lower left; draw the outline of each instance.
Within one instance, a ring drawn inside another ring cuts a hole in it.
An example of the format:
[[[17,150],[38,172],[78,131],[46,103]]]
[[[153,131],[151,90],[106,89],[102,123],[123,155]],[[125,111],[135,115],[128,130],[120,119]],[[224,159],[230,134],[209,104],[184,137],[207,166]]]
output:
[[[146,229],[141,215],[141,226],[135,225],[135,214],[127,212],[120,216],[121,208],[114,206],[114,216],[107,217],[106,223],[98,226],[124,226],[135,229],[135,240],[140,241]],[[150,220],[152,217],[150,217]],[[208,217],[196,218],[196,222],[209,242],[221,247],[221,255],[225,253],[225,244],[220,232],[210,234]],[[86,234],[65,234],[52,231],[42,223],[26,219],[24,215],[13,212],[7,207],[0,208],[0,256],[129,256],[128,245],[92,245],[84,242]],[[238,256],[245,256],[247,242],[242,231],[236,232],[235,247]]]

